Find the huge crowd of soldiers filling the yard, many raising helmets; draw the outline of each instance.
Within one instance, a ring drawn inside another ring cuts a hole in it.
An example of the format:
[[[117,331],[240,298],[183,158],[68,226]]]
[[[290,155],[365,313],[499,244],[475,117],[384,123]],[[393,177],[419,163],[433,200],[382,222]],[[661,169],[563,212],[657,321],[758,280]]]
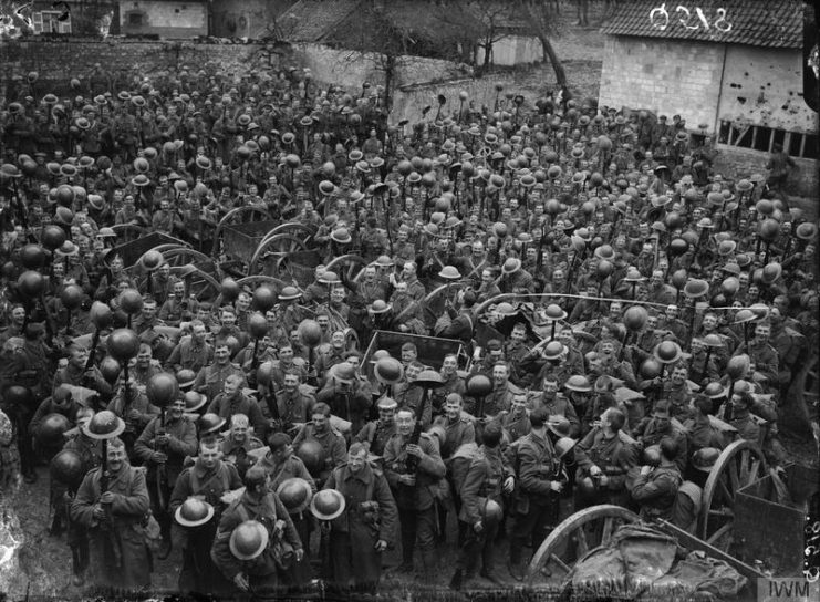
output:
[[[681,116],[498,86],[387,125],[295,68],[70,90],[18,76],[0,113],[0,496],[50,463],[76,587],[177,550],[180,592],[364,595],[388,549],[435,583],[448,541],[451,588],[500,584],[595,504],[692,529],[733,439],[782,465],[817,226]],[[245,206],[312,228],[313,283],[191,294],[116,251]]]

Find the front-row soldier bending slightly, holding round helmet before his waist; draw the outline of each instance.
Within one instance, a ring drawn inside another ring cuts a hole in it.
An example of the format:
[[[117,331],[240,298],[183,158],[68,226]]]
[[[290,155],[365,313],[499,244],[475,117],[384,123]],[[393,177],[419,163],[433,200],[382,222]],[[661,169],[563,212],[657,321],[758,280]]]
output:
[[[276,492],[270,490],[270,476],[259,467],[251,467],[245,476],[245,492],[228,506],[219,520],[210,556],[236,588],[255,595],[267,594],[281,588],[286,567],[304,557],[302,541],[293,527],[287,508]],[[267,538],[257,553],[243,553],[241,538],[243,525],[253,521],[267,531]],[[292,557],[284,557],[283,543],[292,549]]]

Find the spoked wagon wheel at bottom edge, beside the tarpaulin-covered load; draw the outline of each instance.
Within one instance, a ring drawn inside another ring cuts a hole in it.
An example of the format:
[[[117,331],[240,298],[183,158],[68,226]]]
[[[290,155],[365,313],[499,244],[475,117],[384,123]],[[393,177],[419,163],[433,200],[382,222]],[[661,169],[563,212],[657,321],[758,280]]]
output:
[[[579,510],[556,527],[538,547],[527,568],[527,582],[532,584],[543,569],[553,574],[556,570],[569,573],[587,552],[605,544],[619,526],[637,520],[635,512],[611,504]]]

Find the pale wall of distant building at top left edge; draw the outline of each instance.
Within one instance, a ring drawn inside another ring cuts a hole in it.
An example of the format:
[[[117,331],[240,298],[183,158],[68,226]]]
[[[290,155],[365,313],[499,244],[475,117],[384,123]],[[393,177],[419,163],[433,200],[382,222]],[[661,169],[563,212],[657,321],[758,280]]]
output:
[[[141,15],[141,24],[132,22],[132,14]],[[123,33],[156,33],[163,38],[207,35],[208,6],[197,0],[123,0],[120,2],[120,28]]]

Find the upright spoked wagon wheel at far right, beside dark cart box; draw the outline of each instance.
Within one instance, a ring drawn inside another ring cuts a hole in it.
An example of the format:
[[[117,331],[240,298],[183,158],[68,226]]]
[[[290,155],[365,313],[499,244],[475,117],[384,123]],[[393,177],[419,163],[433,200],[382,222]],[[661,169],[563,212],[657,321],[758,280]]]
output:
[[[712,467],[703,495],[698,537],[717,547],[731,530],[737,491],[767,475],[766,458],[760,447],[740,439],[726,447]]]

